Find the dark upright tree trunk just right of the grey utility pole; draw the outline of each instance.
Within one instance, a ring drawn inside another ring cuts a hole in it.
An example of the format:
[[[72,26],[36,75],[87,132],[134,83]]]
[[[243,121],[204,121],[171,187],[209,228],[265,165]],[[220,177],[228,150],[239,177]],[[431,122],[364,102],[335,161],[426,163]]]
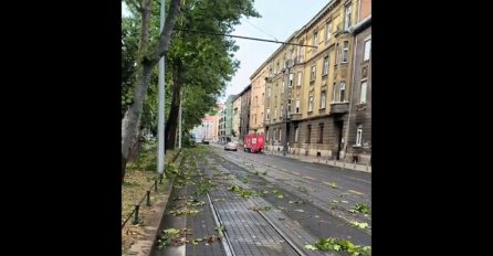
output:
[[[169,117],[166,122],[165,138],[166,138],[166,149],[172,150],[175,149],[175,141],[177,135],[177,125],[178,125],[178,111],[180,108],[180,90],[181,90],[181,70],[180,67],[176,67],[174,70],[174,83],[172,83],[172,96],[171,96],[171,106],[169,107]]]

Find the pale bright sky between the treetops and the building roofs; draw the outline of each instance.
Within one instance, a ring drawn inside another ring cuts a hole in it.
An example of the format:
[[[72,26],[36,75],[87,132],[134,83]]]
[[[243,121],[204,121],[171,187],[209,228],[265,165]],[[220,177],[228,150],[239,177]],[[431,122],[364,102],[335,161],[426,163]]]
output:
[[[255,0],[255,10],[262,18],[241,19],[231,33],[249,38],[285,41],[294,31],[305,25],[331,0]],[[125,4],[123,2],[123,4]],[[123,14],[128,13],[122,6]],[[240,67],[229,83],[225,95],[219,99],[224,102],[228,95],[238,94],[250,84],[250,76],[271,56],[281,44],[252,40],[234,39],[240,49],[234,57]]]

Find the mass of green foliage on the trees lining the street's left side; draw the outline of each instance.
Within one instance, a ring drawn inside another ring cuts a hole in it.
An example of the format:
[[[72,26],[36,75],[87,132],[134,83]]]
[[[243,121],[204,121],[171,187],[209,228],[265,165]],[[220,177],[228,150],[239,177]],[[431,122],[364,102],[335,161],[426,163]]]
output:
[[[151,2],[149,41],[147,47],[139,50],[141,18],[138,7],[141,0],[125,0],[132,13],[122,22],[122,118],[133,103],[133,87],[136,74],[140,68],[140,60],[158,45],[159,8]],[[170,1],[167,1],[169,6]],[[185,28],[214,33],[230,33],[242,17],[260,17],[254,10],[252,0],[216,0],[183,1],[181,14],[176,28]],[[167,8],[168,10],[168,8]],[[169,15],[169,13],[167,14]],[[169,116],[172,92],[183,86],[182,118],[183,132],[201,122],[209,113],[213,115],[216,103],[223,94],[227,82],[232,79],[240,63],[233,53],[238,51],[234,40],[227,36],[210,36],[175,30],[166,54],[166,114]],[[147,97],[144,99],[140,129],[147,128],[157,135],[157,89],[158,68],[151,75]],[[188,145],[188,142],[185,142]]]

